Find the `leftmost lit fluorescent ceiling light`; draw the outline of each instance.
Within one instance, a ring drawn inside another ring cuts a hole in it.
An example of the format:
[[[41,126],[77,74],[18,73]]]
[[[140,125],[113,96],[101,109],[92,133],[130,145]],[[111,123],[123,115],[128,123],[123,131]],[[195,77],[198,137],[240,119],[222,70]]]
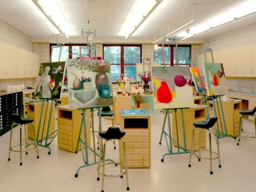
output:
[[[69,38],[73,31],[68,25],[63,13],[55,0],[32,0],[39,10],[43,12],[47,19],[59,30],[59,32]]]

